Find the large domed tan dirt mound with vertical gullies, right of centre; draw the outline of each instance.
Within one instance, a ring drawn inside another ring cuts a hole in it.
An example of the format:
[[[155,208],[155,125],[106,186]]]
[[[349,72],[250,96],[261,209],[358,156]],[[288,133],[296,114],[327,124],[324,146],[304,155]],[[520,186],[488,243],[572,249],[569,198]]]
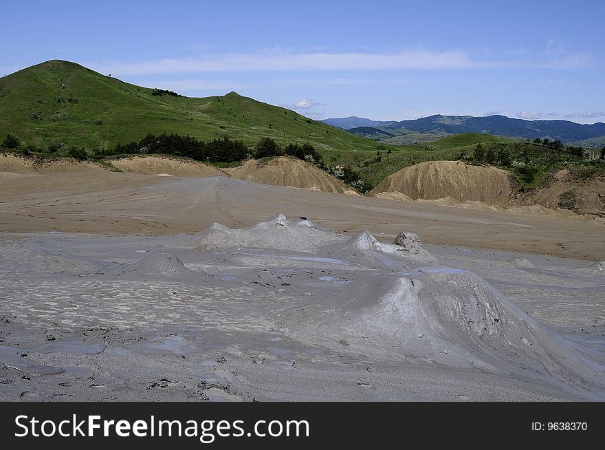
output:
[[[372,191],[400,192],[412,200],[451,197],[457,203],[479,201],[502,204],[511,193],[509,173],[495,167],[471,166],[464,162],[421,162],[389,175]]]

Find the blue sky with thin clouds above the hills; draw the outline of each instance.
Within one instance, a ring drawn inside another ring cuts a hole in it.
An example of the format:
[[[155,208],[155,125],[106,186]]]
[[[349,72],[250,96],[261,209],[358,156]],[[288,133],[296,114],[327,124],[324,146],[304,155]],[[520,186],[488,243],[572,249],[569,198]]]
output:
[[[0,74],[65,59],[311,118],[605,122],[602,1],[6,1]]]

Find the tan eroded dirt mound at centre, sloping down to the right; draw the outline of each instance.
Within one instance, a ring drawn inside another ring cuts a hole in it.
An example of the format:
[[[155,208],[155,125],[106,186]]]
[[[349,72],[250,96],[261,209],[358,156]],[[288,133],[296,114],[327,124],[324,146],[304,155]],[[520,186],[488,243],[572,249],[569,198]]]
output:
[[[337,178],[308,162],[295,158],[275,158],[267,162],[250,160],[239,167],[227,169],[237,180],[291,186],[314,191],[351,194],[354,191],[344,186]]]

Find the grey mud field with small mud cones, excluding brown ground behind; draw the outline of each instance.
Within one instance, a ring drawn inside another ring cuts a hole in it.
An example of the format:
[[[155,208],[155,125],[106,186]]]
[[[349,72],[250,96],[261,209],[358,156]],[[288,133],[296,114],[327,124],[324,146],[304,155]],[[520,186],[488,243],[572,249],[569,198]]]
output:
[[[605,399],[598,266],[397,242],[4,235],[1,399]]]

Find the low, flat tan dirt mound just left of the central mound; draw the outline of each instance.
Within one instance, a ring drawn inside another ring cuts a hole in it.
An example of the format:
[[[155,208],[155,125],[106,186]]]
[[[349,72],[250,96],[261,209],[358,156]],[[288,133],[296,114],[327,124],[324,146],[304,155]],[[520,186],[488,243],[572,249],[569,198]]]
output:
[[[213,177],[224,175],[219,169],[192,160],[180,160],[162,156],[135,156],[111,161],[111,165],[124,172],[175,177]]]

